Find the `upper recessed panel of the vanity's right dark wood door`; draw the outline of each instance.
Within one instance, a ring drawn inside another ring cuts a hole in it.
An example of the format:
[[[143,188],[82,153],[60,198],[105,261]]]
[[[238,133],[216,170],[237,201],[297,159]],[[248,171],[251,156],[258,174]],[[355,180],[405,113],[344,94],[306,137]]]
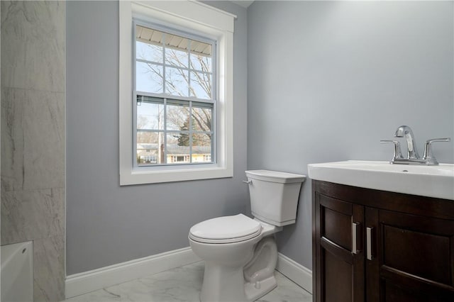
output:
[[[380,211],[382,265],[453,286],[454,221]]]

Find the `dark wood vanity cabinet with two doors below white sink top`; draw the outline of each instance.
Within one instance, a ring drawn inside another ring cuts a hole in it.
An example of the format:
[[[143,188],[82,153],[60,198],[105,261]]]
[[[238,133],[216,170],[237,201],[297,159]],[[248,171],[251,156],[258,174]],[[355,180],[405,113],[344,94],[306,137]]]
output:
[[[454,201],[312,181],[316,302],[454,301]]]

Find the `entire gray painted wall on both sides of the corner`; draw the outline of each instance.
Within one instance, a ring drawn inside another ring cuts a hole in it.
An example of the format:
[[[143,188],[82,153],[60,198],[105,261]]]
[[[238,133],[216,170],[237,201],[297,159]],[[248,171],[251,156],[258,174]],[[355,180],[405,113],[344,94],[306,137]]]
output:
[[[403,124],[420,152],[454,138],[452,2],[255,1],[247,18],[205,2],[238,16],[235,176],[123,187],[118,3],[67,2],[67,274],[187,247],[194,223],[248,213],[246,152],[248,169],[307,174],[313,162],[389,160],[379,140]],[[454,162],[453,142],[434,151]],[[311,268],[310,181],[297,224],[277,238]]]

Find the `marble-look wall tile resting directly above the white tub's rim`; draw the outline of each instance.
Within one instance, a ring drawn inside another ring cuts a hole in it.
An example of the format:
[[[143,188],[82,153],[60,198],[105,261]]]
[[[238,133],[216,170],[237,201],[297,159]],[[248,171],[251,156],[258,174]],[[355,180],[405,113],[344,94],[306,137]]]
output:
[[[65,189],[2,194],[1,245],[65,234]]]

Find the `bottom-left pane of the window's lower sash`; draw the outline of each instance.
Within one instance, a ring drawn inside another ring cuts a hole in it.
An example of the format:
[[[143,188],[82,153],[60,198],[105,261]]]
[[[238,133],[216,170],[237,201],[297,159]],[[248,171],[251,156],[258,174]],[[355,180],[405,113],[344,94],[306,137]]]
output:
[[[164,153],[160,145],[164,142],[164,133],[137,132],[137,164],[150,165],[164,163]]]

